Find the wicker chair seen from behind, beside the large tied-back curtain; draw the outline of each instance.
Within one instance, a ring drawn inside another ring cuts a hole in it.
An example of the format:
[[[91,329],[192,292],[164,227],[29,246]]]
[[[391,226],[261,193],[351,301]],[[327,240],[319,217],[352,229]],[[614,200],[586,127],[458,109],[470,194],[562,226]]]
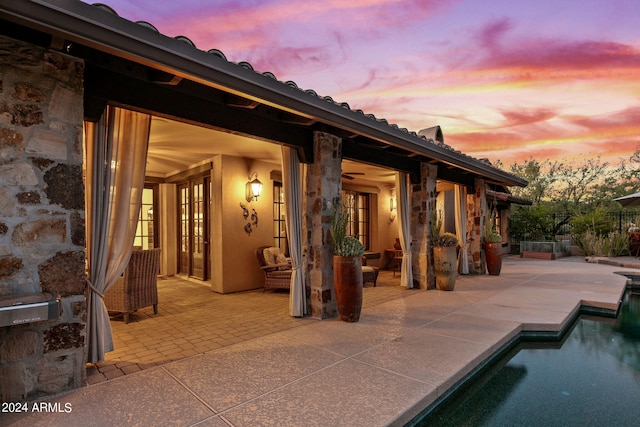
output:
[[[159,272],[160,249],[131,252],[122,277],[104,295],[107,310],[124,313],[125,323],[129,323],[129,313],[150,305],[158,314]]]

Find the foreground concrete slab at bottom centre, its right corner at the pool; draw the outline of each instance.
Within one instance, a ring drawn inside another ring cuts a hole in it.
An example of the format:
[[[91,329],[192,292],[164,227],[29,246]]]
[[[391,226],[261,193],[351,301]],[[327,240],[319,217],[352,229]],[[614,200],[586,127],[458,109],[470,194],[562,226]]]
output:
[[[235,426],[384,426],[416,403],[433,399],[433,384],[347,359],[224,417]]]

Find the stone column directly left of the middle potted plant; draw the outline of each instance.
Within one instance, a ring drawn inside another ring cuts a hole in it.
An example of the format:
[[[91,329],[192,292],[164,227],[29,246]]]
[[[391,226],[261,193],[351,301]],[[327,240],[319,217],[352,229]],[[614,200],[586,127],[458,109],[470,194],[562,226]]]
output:
[[[420,183],[411,191],[411,256],[413,286],[420,289],[435,288],[433,249],[429,244],[431,213],[436,206],[436,175],[438,167],[428,163],[421,165]]]

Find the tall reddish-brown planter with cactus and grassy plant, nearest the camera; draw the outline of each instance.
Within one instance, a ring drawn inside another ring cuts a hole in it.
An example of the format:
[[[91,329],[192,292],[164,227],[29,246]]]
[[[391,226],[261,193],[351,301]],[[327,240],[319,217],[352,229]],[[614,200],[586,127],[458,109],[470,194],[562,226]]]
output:
[[[347,236],[349,212],[334,208],[331,216],[333,239],[333,286],[340,320],[357,322],[362,310],[362,255],[364,245]]]

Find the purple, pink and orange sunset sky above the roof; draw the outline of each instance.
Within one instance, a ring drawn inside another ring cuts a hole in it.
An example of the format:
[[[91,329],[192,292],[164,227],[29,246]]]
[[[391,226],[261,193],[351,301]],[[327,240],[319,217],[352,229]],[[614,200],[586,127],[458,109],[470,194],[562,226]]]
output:
[[[640,149],[638,0],[104,0],[505,165]]]

